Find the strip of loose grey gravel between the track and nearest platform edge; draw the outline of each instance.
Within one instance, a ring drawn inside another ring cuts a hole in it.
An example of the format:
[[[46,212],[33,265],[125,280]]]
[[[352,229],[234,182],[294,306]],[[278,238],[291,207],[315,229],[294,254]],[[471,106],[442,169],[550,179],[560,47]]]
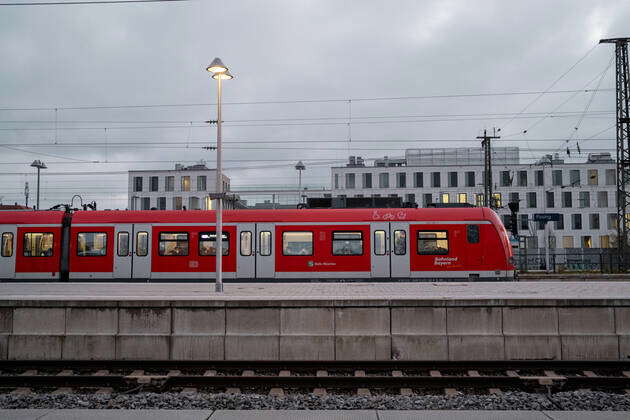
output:
[[[137,394],[0,394],[0,408],[46,409],[308,409],[308,410],[630,410],[630,395],[575,391],[546,394],[506,392],[500,395],[375,395],[370,397],[289,394],[149,393]]]

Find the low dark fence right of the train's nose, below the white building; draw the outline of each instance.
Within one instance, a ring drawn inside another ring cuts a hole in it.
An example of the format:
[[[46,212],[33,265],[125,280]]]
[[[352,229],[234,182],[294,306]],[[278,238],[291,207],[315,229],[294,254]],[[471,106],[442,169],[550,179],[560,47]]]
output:
[[[606,249],[563,249],[549,250],[549,271],[552,273],[563,272],[600,272],[619,273],[625,266],[630,269],[630,255],[624,255],[624,261],[615,251]],[[520,272],[546,271],[545,249],[523,249],[514,254],[516,268]]]

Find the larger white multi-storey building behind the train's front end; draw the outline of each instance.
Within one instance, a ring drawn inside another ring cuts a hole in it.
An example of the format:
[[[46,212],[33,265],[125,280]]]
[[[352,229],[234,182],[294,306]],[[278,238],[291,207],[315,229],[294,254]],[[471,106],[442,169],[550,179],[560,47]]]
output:
[[[547,155],[523,164],[517,147],[493,148],[492,181],[497,213],[507,223],[508,202],[519,202],[519,235],[528,248],[544,248],[544,225],[536,213],[558,213],[551,222],[550,248],[608,248],[616,233],[615,162],[608,153],[589,154],[582,163]],[[399,196],[429,203],[483,205],[481,148],[408,149],[404,158],[377,159],[366,166],[351,156],[331,171],[332,195]]]

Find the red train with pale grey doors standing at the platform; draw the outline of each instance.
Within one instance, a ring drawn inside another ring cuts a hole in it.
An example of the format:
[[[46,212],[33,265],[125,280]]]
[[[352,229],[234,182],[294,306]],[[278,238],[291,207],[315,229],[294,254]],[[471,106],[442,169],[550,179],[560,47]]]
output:
[[[208,281],[212,211],[0,212],[2,281]],[[224,212],[226,281],[512,280],[487,208]]]

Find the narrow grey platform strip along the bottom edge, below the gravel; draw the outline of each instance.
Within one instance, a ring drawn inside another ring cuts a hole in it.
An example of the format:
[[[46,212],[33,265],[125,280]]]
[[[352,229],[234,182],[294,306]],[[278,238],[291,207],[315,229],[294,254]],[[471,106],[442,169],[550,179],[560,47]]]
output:
[[[11,420],[626,420],[612,411],[1,410]]]

